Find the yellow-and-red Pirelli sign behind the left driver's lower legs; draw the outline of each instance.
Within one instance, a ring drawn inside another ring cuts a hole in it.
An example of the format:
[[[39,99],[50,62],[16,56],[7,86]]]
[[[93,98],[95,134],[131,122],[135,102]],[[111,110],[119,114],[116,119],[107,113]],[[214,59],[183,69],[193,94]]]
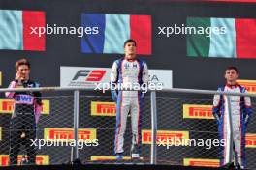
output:
[[[17,156],[17,164],[20,164],[21,161],[21,155]],[[0,166],[8,166],[10,164],[9,162],[9,156],[8,155],[0,155]],[[48,155],[38,155],[36,156],[36,164],[37,165],[48,165],[49,164],[49,156]]]

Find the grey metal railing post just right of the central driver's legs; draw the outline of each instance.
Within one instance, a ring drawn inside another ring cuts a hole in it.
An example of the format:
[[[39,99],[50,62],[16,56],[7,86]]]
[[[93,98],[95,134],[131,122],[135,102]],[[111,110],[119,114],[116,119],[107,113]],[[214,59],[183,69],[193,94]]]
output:
[[[151,158],[150,164],[156,164],[156,133],[157,133],[157,113],[156,113],[156,92],[151,91]]]

